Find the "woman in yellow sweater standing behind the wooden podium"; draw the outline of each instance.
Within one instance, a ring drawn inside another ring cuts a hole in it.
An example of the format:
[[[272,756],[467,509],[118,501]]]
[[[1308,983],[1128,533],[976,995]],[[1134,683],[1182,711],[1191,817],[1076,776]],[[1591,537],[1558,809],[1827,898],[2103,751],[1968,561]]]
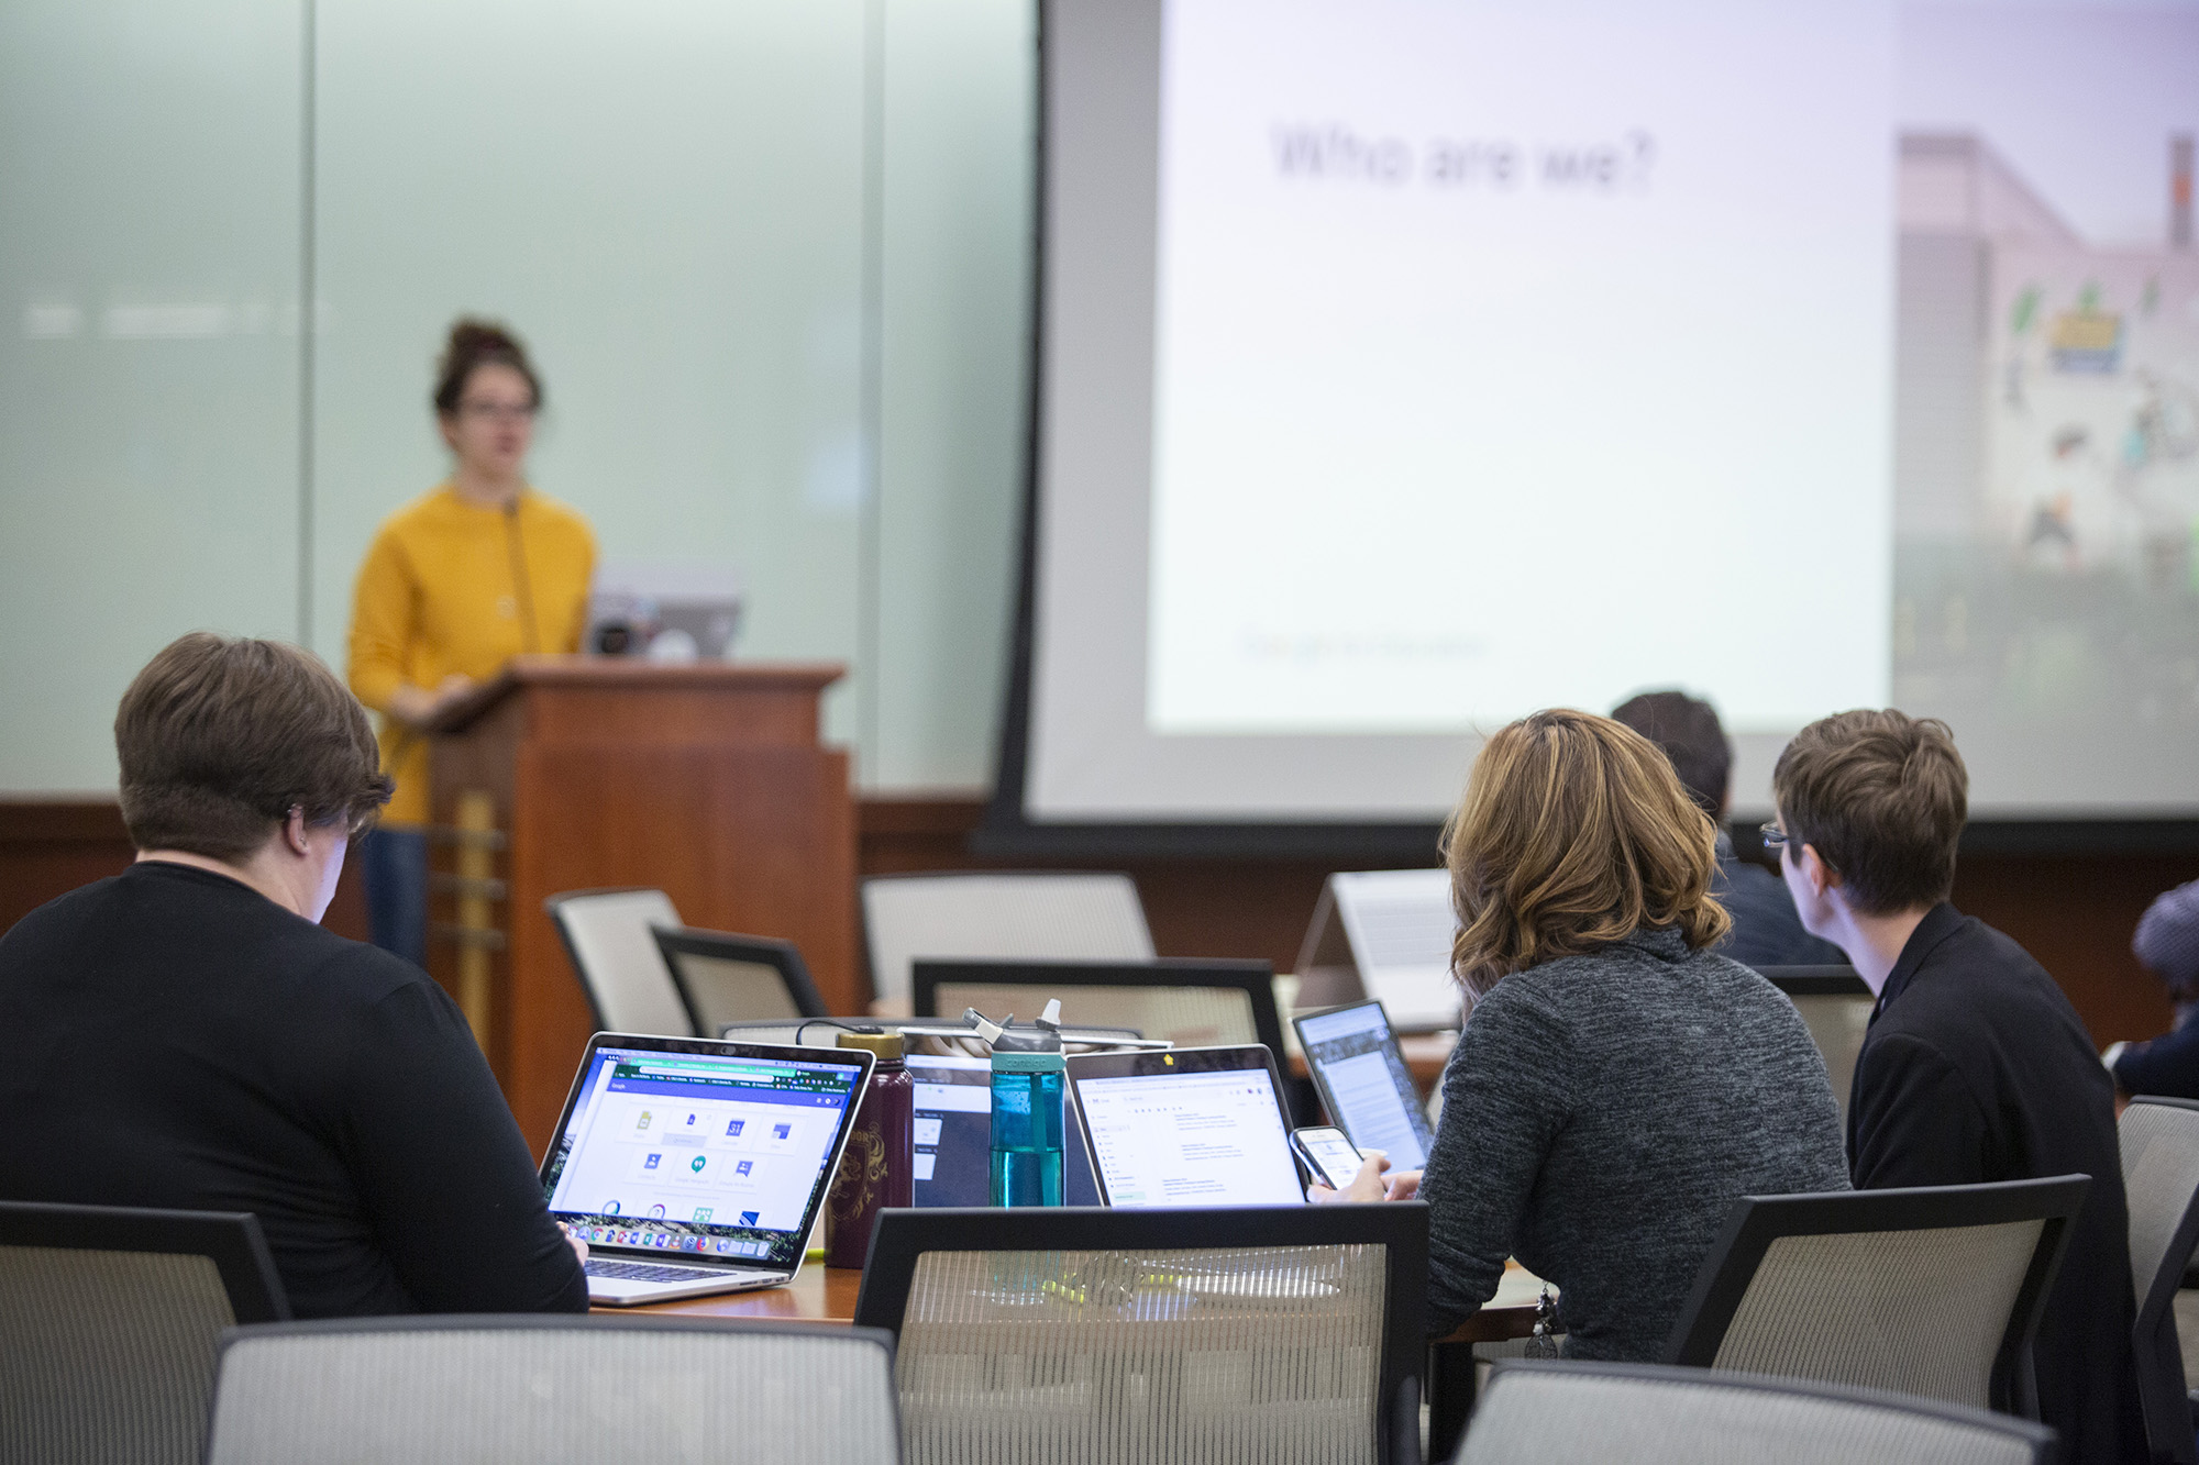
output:
[[[352,596],[352,691],[383,715],[396,798],[363,849],[374,944],[427,961],[422,728],[515,656],[576,651],[596,537],[523,477],[541,378],[501,326],[451,328],[435,378],[451,477],[374,535]]]

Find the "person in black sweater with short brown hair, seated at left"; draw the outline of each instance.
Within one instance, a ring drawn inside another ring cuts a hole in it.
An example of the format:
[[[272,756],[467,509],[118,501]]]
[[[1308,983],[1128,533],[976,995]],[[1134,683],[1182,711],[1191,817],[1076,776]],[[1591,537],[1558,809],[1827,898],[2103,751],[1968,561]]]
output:
[[[457,1003],[319,926],[389,796],[358,702],[194,634],[114,741],[136,864],[0,937],[0,1197],[248,1210],[299,1318],[585,1311]]]

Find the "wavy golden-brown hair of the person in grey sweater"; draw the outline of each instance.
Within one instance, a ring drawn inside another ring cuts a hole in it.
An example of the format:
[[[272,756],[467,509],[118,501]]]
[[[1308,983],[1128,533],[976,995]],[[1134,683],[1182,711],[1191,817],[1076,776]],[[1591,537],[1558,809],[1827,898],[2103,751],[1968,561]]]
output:
[[[1443,831],[1458,937],[1451,972],[1476,996],[1511,972],[1676,926],[1726,935],[1711,900],[1717,827],[1634,728],[1550,711],[1500,728]]]

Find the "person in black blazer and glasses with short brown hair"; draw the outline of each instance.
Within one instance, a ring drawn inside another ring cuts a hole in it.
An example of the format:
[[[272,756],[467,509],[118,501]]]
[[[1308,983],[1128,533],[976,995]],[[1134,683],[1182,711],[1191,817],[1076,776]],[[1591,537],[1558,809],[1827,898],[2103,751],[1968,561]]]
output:
[[[1878,994],[1847,1100],[1856,1188],[2089,1175],[2038,1322],[2038,1417],[2078,1465],[2144,1461],[2113,1082],[2045,968],[1946,900],[1968,816],[1953,735],[1896,711],[1825,717],[1779,754],[1772,796],[1764,836],[1803,926]]]

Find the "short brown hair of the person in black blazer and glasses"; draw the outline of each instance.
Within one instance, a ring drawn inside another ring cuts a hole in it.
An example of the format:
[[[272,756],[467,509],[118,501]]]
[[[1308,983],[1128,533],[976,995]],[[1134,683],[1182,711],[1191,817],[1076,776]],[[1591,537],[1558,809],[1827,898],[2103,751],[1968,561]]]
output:
[[[1779,754],[1772,798],[1786,831],[1816,847],[1865,915],[1935,906],[1955,889],[1970,772],[1937,717],[1821,717]]]

